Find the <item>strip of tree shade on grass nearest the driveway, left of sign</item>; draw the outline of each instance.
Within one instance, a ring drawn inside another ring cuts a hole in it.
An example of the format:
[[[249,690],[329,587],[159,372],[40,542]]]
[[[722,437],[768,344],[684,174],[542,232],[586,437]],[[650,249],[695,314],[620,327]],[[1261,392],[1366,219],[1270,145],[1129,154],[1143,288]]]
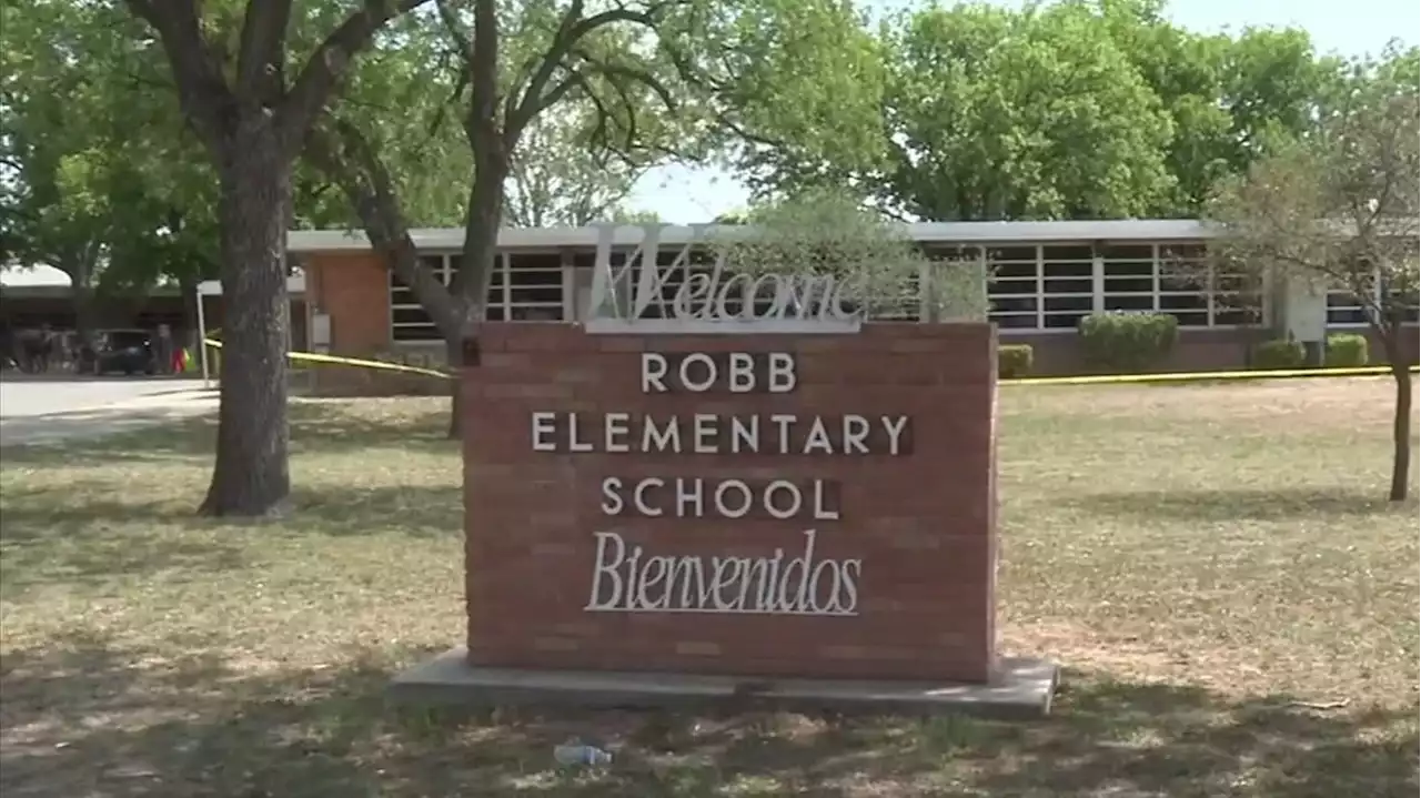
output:
[[[296,402],[288,413],[293,454],[340,454],[387,447],[458,453],[458,443],[446,437],[449,410],[438,403],[429,403],[428,410],[416,413],[371,416],[352,412],[340,402]],[[126,419],[125,426],[141,429],[117,429],[97,439],[77,434],[67,440],[21,440],[6,446],[6,466],[104,467],[183,461],[212,457],[216,450],[216,412],[173,419],[166,410],[114,410],[104,417]],[[84,423],[80,419],[71,422]],[[45,423],[53,425],[55,419]],[[95,425],[95,429],[98,426],[102,425]]]

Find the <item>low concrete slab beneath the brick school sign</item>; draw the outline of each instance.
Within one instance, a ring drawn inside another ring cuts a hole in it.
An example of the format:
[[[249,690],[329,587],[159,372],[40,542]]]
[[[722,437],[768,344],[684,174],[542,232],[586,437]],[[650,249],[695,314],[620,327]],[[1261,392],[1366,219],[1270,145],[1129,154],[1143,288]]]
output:
[[[750,701],[797,711],[1030,720],[1050,713],[1056,684],[1056,665],[1025,657],[1003,659],[992,684],[934,684],[473,667],[460,646],[395,676],[389,690],[394,700],[416,704],[698,709]]]

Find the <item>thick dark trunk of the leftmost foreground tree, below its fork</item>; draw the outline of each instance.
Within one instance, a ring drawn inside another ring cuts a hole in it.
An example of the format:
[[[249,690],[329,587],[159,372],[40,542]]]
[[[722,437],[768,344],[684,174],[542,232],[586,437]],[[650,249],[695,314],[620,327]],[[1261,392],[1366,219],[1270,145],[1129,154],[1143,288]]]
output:
[[[217,461],[202,513],[273,517],[287,508],[286,227],[291,163],[266,121],[227,142],[222,199],[222,390]]]

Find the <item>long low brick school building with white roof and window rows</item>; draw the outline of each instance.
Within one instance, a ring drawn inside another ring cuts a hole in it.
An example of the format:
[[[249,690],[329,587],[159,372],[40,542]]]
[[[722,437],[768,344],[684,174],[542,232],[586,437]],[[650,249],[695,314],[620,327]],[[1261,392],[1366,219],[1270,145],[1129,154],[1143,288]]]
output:
[[[1033,346],[1034,375],[1086,372],[1076,327],[1098,311],[1178,318],[1179,341],[1167,371],[1246,368],[1259,342],[1286,331],[1309,341],[1324,331],[1367,328],[1360,302],[1344,291],[1322,297],[1215,273],[1204,258],[1211,229],[1196,220],[919,223],[909,231],[929,256],[990,267],[990,319],[1003,344]],[[645,234],[641,227],[618,227],[611,263],[635,256]],[[487,318],[584,319],[598,236],[595,227],[503,230]],[[463,230],[415,230],[412,237],[425,263],[449,284]],[[693,246],[692,239],[691,227],[661,229],[658,258],[669,264]],[[443,365],[443,342],[429,315],[364,234],[296,230],[288,248],[306,277],[303,321],[313,351]],[[1421,327],[1412,341],[1421,348]],[[1373,352],[1380,355],[1376,342]],[[446,389],[438,379],[355,368],[318,369],[315,385],[325,393]]]

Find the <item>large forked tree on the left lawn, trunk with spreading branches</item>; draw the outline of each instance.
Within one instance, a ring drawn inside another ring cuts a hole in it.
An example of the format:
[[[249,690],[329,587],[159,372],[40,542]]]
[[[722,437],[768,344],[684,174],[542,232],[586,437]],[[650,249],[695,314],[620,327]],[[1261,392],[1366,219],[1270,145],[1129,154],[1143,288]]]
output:
[[[297,18],[291,0],[125,3],[158,34],[220,192],[223,381],[217,457],[200,511],[280,514],[291,490],[286,230],[294,163],[352,58],[388,20],[422,0],[362,0],[351,11],[303,4]],[[290,33],[337,14],[340,23],[288,81],[287,62],[300,44]]]

